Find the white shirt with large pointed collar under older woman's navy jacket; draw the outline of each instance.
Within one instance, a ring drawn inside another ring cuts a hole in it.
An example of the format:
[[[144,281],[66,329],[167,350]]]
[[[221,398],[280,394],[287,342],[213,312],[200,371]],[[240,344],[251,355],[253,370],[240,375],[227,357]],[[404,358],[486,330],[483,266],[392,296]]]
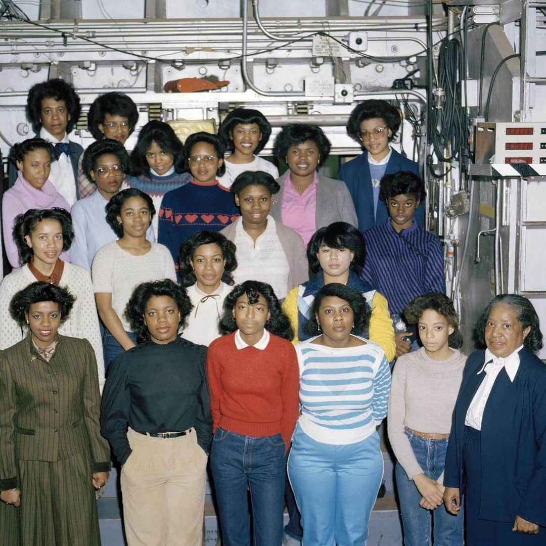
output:
[[[473,429],[482,430],[483,412],[485,404],[491,394],[491,389],[495,384],[495,380],[501,370],[504,368],[511,382],[514,381],[515,375],[519,369],[519,352],[523,345],[518,347],[512,354],[505,358],[495,357],[489,349],[485,351],[484,364],[479,369],[478,375],[485,371],[486,377],[480,384],[476,394],[468,406],[465,417],[465,425],[471,426]]]

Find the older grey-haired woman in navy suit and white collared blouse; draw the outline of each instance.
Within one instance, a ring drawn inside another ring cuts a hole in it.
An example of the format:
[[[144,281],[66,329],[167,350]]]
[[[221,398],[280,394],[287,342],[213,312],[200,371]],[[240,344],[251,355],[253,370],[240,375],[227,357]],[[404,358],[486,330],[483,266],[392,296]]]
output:
[[[453,412],[444,503],[465,499],[467,546],[546,544],[546,366],[538,316],[496,296],[481,319]],[[461,517],[461,516],[459,516]]]

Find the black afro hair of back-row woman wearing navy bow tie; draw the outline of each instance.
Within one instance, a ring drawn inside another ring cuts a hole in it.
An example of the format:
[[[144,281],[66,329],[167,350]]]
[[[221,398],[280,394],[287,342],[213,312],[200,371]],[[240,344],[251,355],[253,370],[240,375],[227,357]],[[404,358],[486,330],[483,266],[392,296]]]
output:
[[[78,97],[74,87],[60,78],[42,81],[31,87],[27,96],[26,112],[29,121],[32,123],[32,128],[37,133],[41,129],[41,102],[44,99],[64,101],[69,115],[67,133],[70,133],[74,129],[81,112],[80,97]]]

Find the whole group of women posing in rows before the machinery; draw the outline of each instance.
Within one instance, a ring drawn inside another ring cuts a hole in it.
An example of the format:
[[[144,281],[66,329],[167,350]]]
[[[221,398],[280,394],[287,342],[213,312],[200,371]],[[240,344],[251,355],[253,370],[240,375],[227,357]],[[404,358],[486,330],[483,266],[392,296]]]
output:
[[[394,108],[355,108],[365,151],[343,183],[318,173],[330,145],[303,124],[276,137],[278,177],[256,110],[184,146],[149,122],[129,155],[138,112],[119,93],[93,103],[97,141],[75,161],[79,100],[52,81],[29,94],[41,138],[14,147],[3,202],[5,542],[99,544],[110,444],[129,544],[201,543],[210,461],[224,546],[363,545],[388,416],[405,544],[428,543],[431,515],[436,544],[462,544],[464,520],[469,545],[546,544],[537,314],[497,296],[465,364]],[[391,301],[413,325],[396,336]]]

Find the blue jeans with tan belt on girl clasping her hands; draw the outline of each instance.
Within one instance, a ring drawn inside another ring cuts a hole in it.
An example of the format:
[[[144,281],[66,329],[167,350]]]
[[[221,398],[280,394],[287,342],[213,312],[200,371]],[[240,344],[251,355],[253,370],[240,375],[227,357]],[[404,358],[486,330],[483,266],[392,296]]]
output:
[[[409,430],[406,430],[406,436],[425,476],[438,479],[446,465],[447,438],[428,440]],[[443,505],[432,512],[421,508],[419,501],[422,495],[399,463],[396,463],[395,476],[405,546],[429,546],[431,515],[434,520],[435,546],[461,546],[464,521],[462,510],[455,517]]]

